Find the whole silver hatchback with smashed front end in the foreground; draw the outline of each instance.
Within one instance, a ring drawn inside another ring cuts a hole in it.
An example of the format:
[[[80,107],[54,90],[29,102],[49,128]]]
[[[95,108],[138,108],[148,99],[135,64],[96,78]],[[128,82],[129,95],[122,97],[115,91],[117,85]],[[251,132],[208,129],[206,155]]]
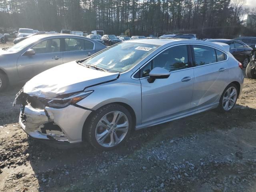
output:
[[[130,40],[38,74],[14,104],[21,104],[19,122],[32,138],[87,140],[111,150],[132,129],[230,111],[242,91],[241,68],[219,44]]]

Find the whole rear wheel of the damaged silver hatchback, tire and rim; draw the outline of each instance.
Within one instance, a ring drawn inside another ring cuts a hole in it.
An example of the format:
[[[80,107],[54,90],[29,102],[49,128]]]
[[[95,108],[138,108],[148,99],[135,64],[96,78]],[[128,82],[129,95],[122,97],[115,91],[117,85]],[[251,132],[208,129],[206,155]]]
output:
[[[220,97],[218,111],[221,113],[228,112],[236,105],[238,98],[238,88],[234,83],[230,83]]]

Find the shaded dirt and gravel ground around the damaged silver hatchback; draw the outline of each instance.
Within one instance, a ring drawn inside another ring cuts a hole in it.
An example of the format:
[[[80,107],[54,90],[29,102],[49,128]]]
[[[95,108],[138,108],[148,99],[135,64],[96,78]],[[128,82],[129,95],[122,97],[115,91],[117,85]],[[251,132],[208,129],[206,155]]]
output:
[[[111,152],[28,138],[18,124],[19,107],[12,107],[21,86],[0,93],[2,192],[256,191],[256,80],[244,79],[232,112],[135,131]]]

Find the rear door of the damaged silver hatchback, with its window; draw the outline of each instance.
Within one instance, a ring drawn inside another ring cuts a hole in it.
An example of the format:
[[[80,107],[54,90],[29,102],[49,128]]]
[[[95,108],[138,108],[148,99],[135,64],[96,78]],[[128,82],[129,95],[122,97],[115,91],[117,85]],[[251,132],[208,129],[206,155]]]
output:
[[[191,107],[203,108],[218,103],[228,78],[227,55],[210,46],[192,44],[194,91]]]

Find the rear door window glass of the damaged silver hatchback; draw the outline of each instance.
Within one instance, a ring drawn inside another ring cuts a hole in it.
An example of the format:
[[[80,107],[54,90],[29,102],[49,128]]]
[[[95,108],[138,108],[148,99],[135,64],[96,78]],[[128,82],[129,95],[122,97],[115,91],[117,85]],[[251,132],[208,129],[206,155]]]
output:
[[[203,45],[193,45],[195,54],[194,66],[201,66],[217,62],[215,49]]]

